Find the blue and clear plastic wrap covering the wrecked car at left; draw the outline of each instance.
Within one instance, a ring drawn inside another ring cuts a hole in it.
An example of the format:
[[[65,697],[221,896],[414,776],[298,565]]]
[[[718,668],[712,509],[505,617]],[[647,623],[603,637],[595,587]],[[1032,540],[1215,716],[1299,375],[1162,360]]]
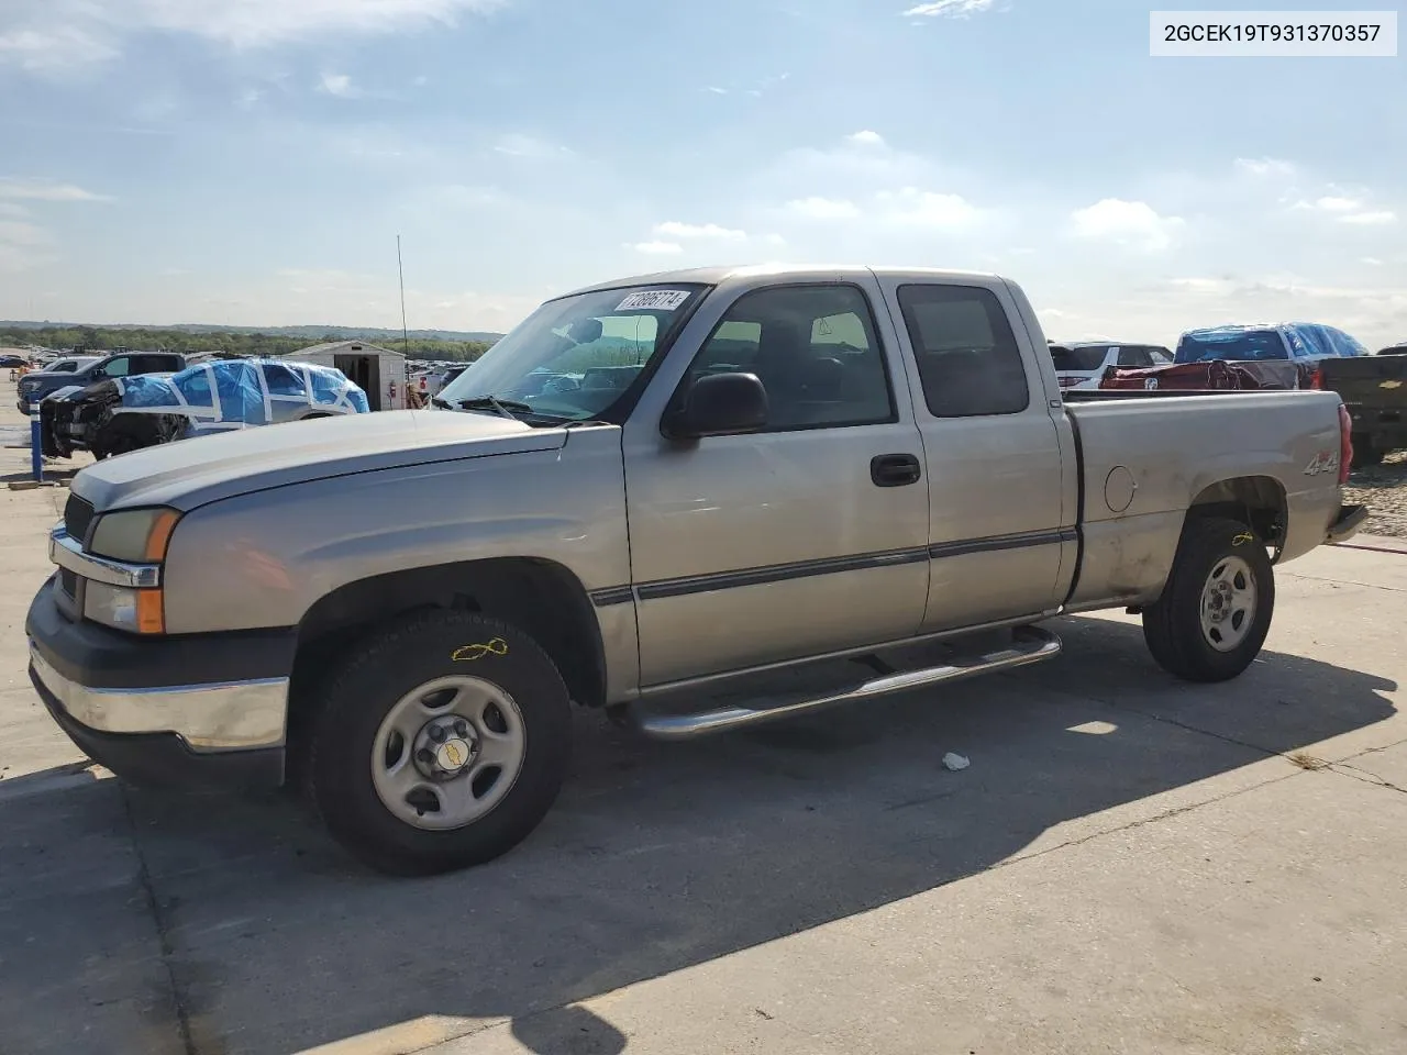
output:
[[[114,380],[124,412],[187,418],[186,435],[273,425],[312,409],[326,414],[371,409],[366,392],[340,370],[283,359],[222,359],[176,374]]]

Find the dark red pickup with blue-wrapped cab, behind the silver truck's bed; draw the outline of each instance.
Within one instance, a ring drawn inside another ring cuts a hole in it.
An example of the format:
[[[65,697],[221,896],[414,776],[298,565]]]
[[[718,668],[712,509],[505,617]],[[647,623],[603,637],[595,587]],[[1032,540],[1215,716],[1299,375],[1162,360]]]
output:
[[[1316,322],[1189,329],[1178,340],[1173,366],[1106,370],[1100,388],[1321,388],[1320,364],[1366,356],[1341,329]],[[1231,370],[1227,370],[1231,367]]]

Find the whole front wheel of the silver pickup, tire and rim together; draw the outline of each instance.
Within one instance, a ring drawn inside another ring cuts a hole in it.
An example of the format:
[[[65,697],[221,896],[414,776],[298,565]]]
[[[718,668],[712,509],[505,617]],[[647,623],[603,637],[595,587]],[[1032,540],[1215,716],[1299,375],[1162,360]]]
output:
[[[537,827],[571,750],[571,705],[528,634],[467,612],[390,626],[322,693],[312,799],[332,836],[390,875],[491,861]]]

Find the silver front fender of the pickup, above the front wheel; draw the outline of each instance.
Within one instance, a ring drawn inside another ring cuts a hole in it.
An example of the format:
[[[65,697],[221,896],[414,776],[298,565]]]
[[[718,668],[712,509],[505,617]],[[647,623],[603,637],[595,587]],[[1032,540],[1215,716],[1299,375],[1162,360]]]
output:
[[[577,432],[561,450],[369,471],[201,506],[172,536],[166,626],[295,626],[350,582],[495,557],[554,561],[588,591],[630,581],[618,429]]]

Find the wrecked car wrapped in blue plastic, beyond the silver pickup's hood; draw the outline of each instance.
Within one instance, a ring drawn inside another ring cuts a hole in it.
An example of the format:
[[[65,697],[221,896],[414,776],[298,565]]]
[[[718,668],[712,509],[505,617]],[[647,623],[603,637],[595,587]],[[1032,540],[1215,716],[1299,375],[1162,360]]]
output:
[[[214,359],[176,374],[111,378],[39,404],[46,457],[98,460],[158,443],[259,425],[369,414],[366,392],[329,366]]]

